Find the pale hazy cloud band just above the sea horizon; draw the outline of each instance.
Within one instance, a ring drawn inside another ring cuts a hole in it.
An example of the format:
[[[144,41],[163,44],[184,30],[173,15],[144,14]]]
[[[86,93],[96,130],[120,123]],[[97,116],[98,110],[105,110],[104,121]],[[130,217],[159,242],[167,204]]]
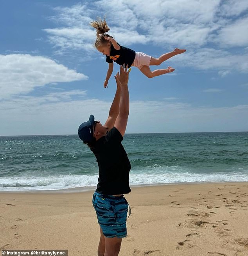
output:
[[[52,101],[47,100],[47,96],[21,96],[0,102],[0,134],[77,134],[78,126],[88,120],[90,114],[104,122],[111,105],[95,98],[69,100],[66,97],[61,102],[56,101],[56,95],[52,97]],[[130,103],[127,132],[245,131],[247,127],[248,105],[196,108],[181,102],[135,101]]]

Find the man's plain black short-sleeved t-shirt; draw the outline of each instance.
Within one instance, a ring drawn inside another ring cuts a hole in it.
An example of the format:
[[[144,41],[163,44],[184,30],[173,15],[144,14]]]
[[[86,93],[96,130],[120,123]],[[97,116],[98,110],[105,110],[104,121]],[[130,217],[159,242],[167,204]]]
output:
[[[99,167],[96,191],[106,195],[128,194],[131,164],[121,144],[120,132],[113,127],[106,136],[100,138],[92,149]]]

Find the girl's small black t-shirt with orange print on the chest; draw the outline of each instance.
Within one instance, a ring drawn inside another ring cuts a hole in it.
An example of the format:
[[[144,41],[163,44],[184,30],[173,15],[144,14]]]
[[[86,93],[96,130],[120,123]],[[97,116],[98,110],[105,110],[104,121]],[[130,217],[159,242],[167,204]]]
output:
[[[135,51],[121,45],[120,45],[120,50],[116,50],[112,44],[110,49],[110,56],[106,56],[106,62],[113,63],[114,61],[119,65],[126,64],[128,65],[128,67],[131,67],[134,59],[135,59]]]

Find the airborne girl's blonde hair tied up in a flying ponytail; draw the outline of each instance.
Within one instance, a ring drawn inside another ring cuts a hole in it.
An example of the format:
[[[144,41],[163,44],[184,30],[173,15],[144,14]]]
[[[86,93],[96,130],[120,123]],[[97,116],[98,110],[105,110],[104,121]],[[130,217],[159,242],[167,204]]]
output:
[[[97,39],[95,40],[96,48],[109,42],[104,38],[104,36],[113,38],[113,36],[105,34],[106,32],[110,31],[110,28],[108,27],[105,18],[103,20],[101,18],[98,18],[97,20],[90,22],[90,25],[97,30]]]

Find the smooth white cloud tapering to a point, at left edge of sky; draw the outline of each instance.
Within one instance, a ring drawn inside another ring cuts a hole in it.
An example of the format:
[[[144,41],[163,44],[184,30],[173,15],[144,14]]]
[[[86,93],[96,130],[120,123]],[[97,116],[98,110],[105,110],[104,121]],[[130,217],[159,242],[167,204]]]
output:
[[[34,87],[88,77],[54,60],[29,54],[0,55],[1,97],[29,93]]]

